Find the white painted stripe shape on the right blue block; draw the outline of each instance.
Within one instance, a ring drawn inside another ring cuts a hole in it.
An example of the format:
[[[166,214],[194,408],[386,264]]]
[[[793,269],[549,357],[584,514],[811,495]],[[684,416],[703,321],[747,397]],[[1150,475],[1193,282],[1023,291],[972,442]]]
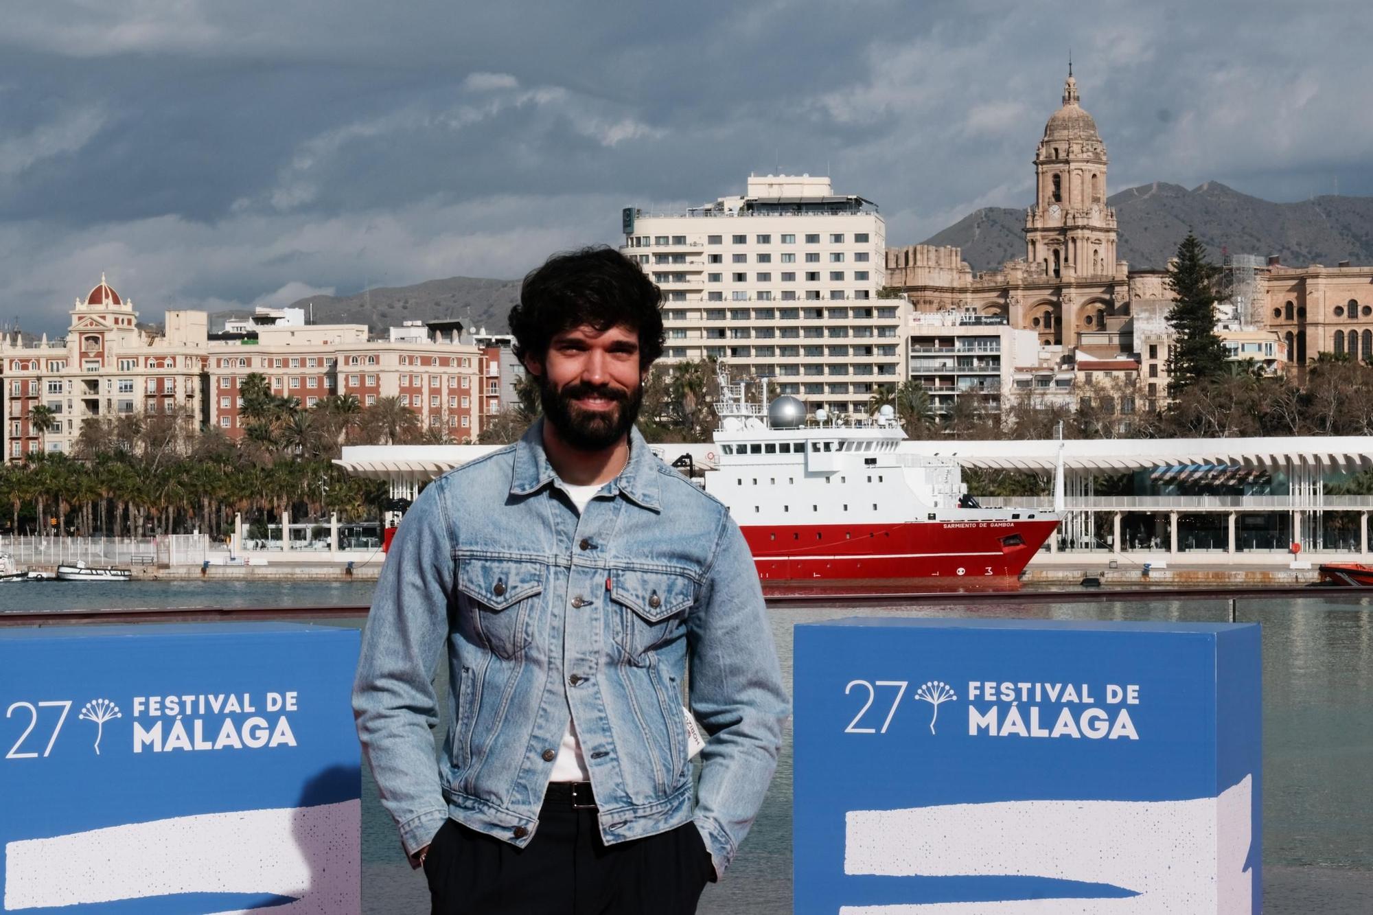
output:
[[[1189,801],[1000,801],[851,811],[844,872],[1042,877],[1123,899],[846,905],[842,915],[1144,915],[1252,911],[1252,776]]]

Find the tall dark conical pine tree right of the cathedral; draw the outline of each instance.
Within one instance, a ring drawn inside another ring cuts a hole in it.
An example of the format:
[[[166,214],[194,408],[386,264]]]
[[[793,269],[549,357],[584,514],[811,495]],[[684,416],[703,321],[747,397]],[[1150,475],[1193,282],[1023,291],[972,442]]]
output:
[[[1195,235],[1178,245],[1168,265],[1168,310],[1173,345],[1168,349],[1168,397],[1226,372],[1225,343],[1215,332],[1215,290],[1221,269],[1205,260],[1205,246]]]

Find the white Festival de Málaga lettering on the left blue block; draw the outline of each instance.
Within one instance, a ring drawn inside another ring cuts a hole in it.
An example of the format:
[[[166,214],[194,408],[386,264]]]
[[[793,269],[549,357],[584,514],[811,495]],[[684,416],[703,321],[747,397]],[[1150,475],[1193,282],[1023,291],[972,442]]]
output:
[[[297,710],[294,691],[262,695],[262,710],[277,713],[275,724],[255,714],[257,710],[254,697],[249,692],[133,697],[133,752],[259,750],[295,746],[295,734],[286,716],[287,712]],[[205,717],[207,714],[214,719]],[[231,717],[244,714],[249,717],[242,720]],[[150,727],[140,719],[170,719],[170,721],[158,720]]]

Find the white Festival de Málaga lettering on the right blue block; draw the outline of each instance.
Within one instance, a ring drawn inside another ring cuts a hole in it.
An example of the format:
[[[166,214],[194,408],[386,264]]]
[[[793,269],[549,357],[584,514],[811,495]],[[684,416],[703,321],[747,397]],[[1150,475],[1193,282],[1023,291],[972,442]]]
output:
[[[1127,708],[1140,705],[1140,686],[1134,683],[1107,683],[1093,694],[1087,683],[972,680],[968,701],[969,736],[1140,739]]]

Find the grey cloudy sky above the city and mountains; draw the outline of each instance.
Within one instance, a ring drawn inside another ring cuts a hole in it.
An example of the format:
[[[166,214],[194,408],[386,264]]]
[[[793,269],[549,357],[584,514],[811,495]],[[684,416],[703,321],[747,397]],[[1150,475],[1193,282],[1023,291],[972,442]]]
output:
[[[0,321],[514,278],[750,172],[892,245],[1024,206],[1072,49],[1109,190],[1373,194],[1373,15],[1335,3],[43,0],[0,30]]]

